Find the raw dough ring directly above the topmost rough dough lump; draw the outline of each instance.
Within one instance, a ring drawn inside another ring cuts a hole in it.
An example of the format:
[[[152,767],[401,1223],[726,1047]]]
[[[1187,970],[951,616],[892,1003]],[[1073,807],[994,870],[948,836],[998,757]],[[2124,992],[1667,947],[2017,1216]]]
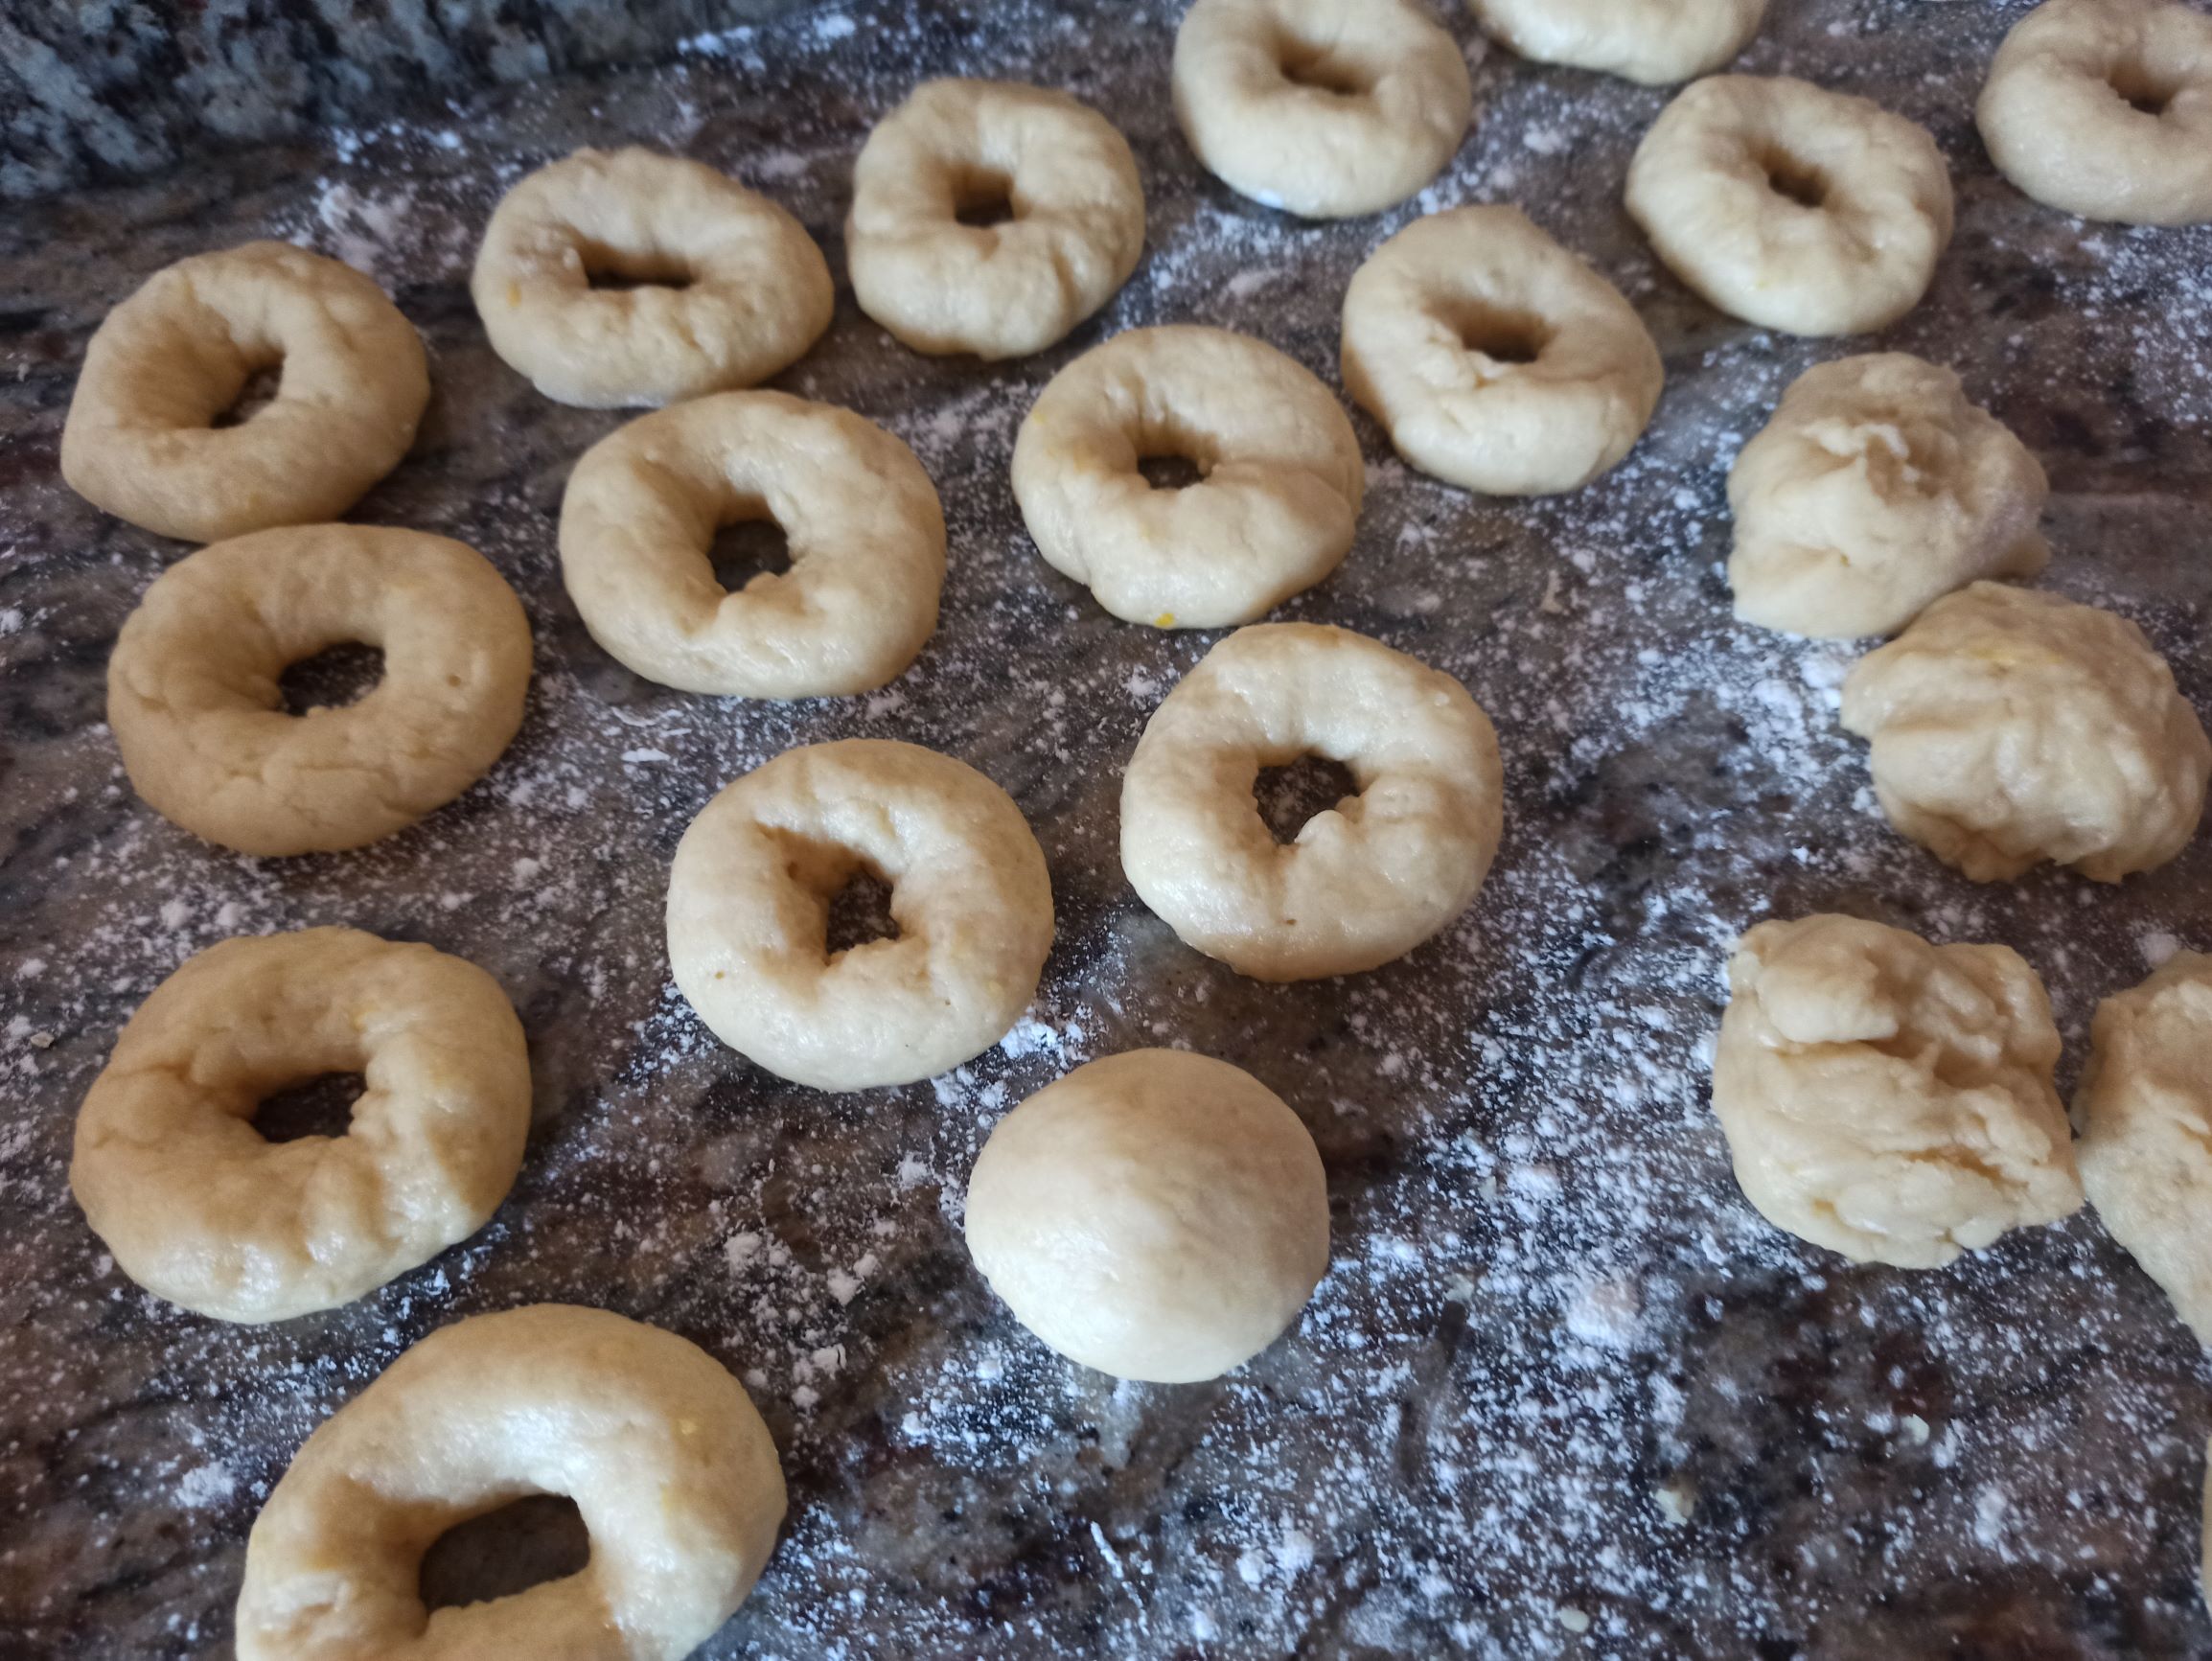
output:
[[[1628,212],[1683,283],[1767,330],[1863,334],[1920,303],[1951,241],[1927,128],[1787,75],[1712,75],[1628,164]]]

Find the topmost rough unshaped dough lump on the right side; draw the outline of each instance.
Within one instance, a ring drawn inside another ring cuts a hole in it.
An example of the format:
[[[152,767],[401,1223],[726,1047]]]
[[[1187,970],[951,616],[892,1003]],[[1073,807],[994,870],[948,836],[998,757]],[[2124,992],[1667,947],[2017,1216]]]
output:
[[[1728,473],[1736,617],[1896,635],[1953,588],[2033,577],[2051,484],[1949,369],[1876,352],[1807,369]]]

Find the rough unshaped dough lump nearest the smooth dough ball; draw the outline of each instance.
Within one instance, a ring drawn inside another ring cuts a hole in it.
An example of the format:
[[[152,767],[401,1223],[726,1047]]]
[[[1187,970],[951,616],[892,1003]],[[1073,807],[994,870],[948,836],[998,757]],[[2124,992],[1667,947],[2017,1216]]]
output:
[[[2079,1210],[2059,1033],[2017,951],[1840,916],[1761,922],[1728,991],[1712,1108],[1774,1228],[1940,1270]]]

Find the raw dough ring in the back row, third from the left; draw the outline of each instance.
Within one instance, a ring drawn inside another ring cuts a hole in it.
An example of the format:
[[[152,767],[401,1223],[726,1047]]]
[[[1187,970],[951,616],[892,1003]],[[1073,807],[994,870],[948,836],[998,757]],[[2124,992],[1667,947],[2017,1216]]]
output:
[[[1137,157],[1066,93],[922,82],[860,148],[845,248],[860,310],[916,352],[1044,352],[1137,270]]]

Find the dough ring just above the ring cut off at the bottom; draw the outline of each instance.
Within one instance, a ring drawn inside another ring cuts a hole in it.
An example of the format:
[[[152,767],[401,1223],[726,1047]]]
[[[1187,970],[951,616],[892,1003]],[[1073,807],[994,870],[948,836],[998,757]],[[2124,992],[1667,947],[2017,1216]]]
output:
[[[338,1137],[265,1141],[254,1110],[325,1073],[365,1090]],[[358,929],[223,940],[115,1040],[69,1185],[117,1267],[219,1320],[336,1309],[480,1230],[522,1166],[522,1022],[471,962]]]

